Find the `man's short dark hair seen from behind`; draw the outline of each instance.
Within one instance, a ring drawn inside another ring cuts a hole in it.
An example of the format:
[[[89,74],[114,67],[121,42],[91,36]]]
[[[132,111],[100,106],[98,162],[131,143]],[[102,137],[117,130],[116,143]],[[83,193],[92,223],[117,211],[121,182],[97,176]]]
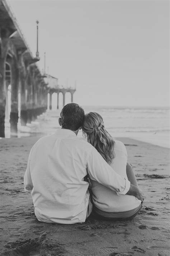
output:
[[[60,117],[62,128],[76,131],[84,121],[84,109],[76,103],[69,103],[63,107]]]

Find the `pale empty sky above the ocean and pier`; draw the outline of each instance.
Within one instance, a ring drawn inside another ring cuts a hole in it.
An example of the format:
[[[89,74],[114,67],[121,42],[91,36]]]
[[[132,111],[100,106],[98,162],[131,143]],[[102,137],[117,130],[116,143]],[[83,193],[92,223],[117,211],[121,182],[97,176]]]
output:
[[[169,1],[8,0],[38,64],[81,105],[169,105]]]

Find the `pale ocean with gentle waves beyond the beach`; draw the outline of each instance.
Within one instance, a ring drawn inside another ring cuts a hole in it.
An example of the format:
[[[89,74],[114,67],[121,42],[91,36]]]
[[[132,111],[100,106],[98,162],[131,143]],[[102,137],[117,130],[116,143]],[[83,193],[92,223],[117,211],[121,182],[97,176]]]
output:
[[[85,113],[98,112],[107,131],[114,137],[129,137],[170,148],[170,108],[82,106]],[[59,129],[61,109],[47,110],[26,127],[18,122],[18,138],[36,134],[49,135]],[[82,136],[82,133],[79,133]],[[10,138],[9,120],[5,120],[5,138]]]

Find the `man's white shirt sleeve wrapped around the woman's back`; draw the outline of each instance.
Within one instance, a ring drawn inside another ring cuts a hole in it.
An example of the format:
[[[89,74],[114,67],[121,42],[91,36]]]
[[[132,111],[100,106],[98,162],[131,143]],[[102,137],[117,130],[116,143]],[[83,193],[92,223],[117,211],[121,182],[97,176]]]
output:
[[[92,148],[86,166],[91,180],[114,190],[118,195],[128,192],[131,183],[117,174],[95,148]]]

